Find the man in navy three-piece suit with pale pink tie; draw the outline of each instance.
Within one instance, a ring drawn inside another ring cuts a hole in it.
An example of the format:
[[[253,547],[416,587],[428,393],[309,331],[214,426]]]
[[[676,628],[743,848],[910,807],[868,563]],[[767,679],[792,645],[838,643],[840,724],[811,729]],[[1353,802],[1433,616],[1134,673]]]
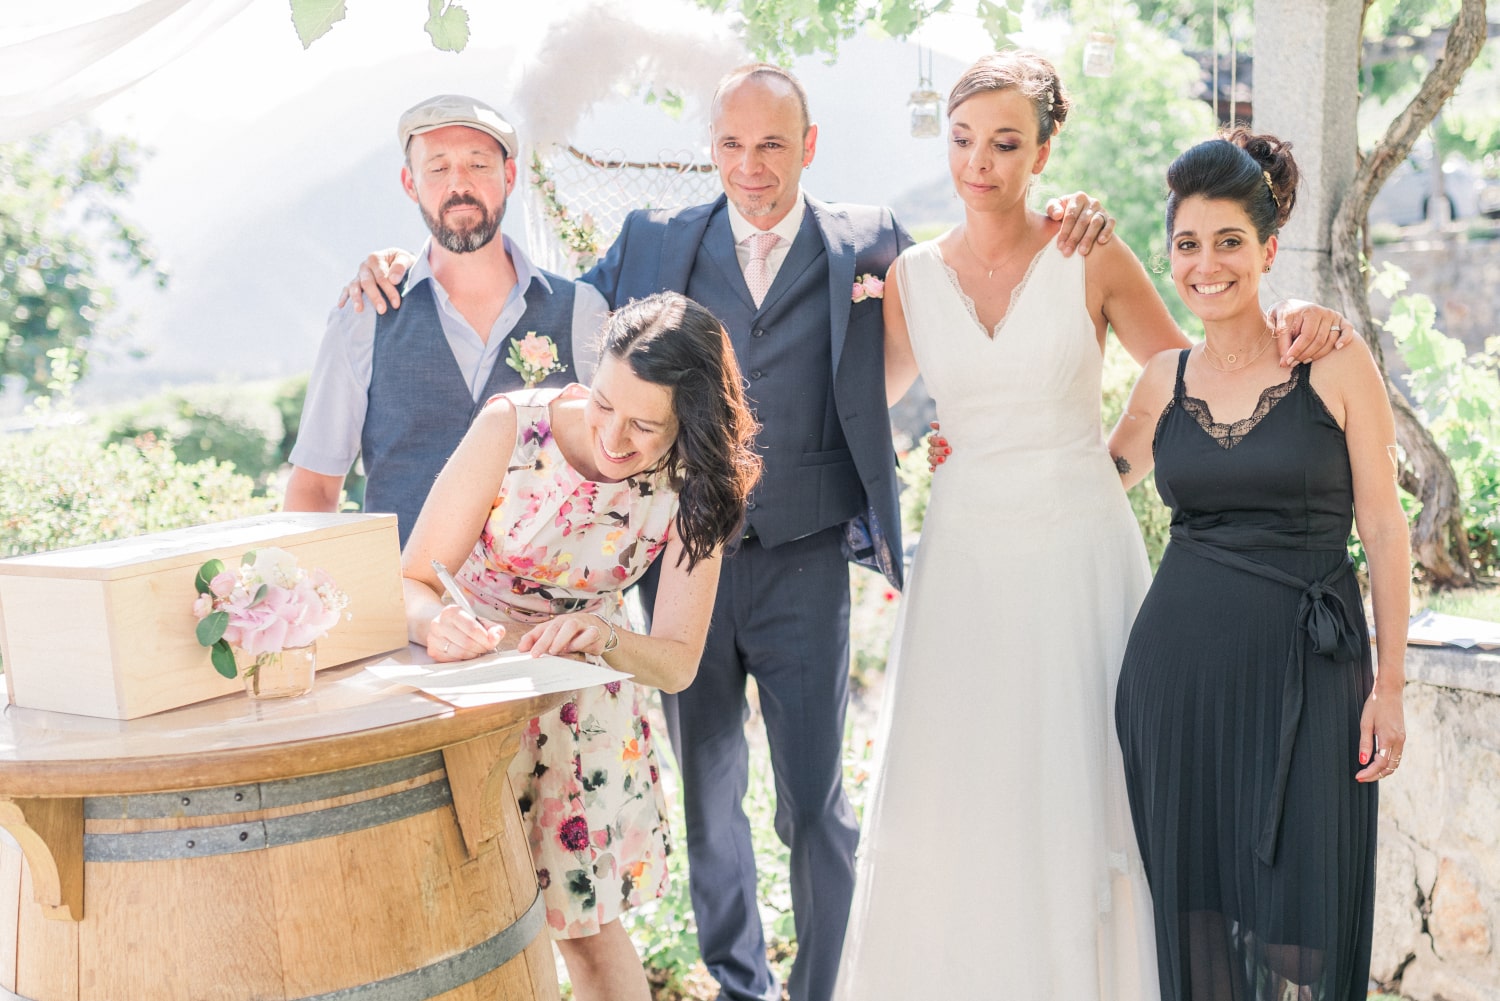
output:
[[[880,300],[855,302],[854,288],[866,276],[884,279],[910,237],[888,209],[802,192],[818,126],[786,71],[735,69],[711,114],[724,197],[680,212],[633,212],[584,281],[610,308],[663,290],[696,299],[723,321],[748,381],[765,473],[744,542],[723,564],[698,678],[663,704],[682,768],[704,962],[720,996],[774,999],[780,989],[766,965],[741,806],[746,678],[756,680],[776,773],[776,830],[790,849],[798,941],[790,996],[826,1001],[860,836],[842,767],[848,558],[902,585]],[[1095,215],[1078,212],[1086,203],[1070,207],[1084,216],[1080,234]],[[1071,222],[1068,249],[1077,242]]]

